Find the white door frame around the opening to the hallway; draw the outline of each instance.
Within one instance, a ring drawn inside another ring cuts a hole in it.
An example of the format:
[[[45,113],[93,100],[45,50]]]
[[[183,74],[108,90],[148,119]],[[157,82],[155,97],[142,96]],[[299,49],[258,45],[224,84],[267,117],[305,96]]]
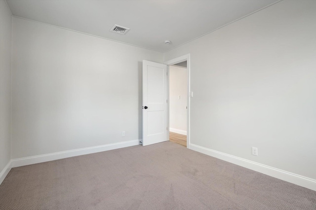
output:
[[[180,56],[178,58],[169,60],[169,61],[165,61],[163,64],[167,65],[167,72],[168,72],[168,76],[167,76],[167,97],[168,97],[168,111],[167,111],[167,125],[168,125],[168,131],[170,131],[170,125],[169,125],[169,66],[170,65],[174,65],[174,64],[178,64],[181,63],[183,61],[187,61],[187,148],[190,149],[190,54],[187,55],[183,55]],[[169,132],[167,133],[167,139],[169,140]]]

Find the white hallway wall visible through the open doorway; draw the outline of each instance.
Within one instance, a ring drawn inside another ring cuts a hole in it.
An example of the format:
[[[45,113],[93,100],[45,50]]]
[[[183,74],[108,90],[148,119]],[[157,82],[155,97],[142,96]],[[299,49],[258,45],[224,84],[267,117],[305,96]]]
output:
[[[179,99],[180,96],[180,99]],[[187,69],[169,67],[169,127],[171,132],[187,132]]]

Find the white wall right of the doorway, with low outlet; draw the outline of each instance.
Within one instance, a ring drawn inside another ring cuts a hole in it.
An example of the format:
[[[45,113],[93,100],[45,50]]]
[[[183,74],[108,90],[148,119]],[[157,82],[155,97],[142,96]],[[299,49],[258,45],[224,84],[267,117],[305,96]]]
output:
[[[315,11],[280,1],[165,53],[191,54],[191,143],[316,179]]]

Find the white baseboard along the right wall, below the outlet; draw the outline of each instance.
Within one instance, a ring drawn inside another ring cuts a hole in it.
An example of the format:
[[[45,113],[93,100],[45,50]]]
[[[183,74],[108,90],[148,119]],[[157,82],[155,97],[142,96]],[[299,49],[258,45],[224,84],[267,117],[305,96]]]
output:
[[[316,191],[316,179],[286,172],[192,143],[190,149]]]

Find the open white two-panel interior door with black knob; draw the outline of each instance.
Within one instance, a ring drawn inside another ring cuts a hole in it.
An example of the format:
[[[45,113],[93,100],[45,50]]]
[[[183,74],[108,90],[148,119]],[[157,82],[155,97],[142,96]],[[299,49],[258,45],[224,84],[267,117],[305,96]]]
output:
[[[143,146],[167,140],[167,66],[143,61]]]

